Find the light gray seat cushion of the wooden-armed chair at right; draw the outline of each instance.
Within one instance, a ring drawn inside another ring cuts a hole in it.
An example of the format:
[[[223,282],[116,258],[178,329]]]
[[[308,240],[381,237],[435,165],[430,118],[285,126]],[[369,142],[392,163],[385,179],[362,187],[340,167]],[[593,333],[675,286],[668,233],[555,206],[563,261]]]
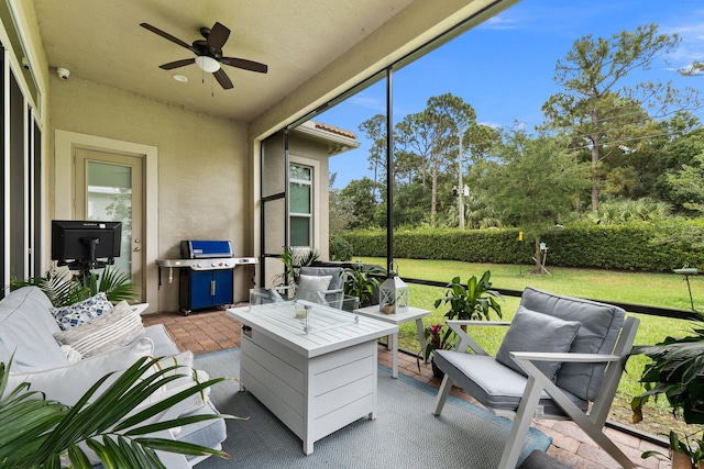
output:
[[[528,378],[496,361],[494,357],[437,350],[433,360],[438,368],[485,406],[512,412],[518,409]],[[570,392],[565,392],[565,395],[580,409],[586,411],[586,401]],[[544,391],[538,405],[543,406],[546,414],[564,414]]]

